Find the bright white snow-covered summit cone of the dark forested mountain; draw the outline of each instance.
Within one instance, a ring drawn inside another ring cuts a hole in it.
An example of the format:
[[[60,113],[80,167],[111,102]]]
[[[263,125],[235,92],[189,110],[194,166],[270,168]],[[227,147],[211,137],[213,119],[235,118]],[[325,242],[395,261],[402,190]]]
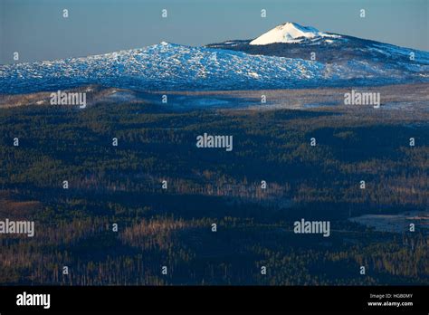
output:
[[[311,26],[302,26],[296,23],[285,23],[274,27],[267,33],[263,33],[254,39],[251,45],[266,45],[269,43],[300,43],[304,40],[311,40],[320,37],[334,37],[339,35],[319,32],[317,28]]]

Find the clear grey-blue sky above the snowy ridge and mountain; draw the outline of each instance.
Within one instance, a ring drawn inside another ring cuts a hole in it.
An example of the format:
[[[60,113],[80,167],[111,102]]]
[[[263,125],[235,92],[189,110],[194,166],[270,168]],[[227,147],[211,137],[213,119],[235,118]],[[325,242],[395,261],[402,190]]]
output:
[[[429,51],[428,16],[429,0],[0,0],[0,63],[251,39],[284,22]]]

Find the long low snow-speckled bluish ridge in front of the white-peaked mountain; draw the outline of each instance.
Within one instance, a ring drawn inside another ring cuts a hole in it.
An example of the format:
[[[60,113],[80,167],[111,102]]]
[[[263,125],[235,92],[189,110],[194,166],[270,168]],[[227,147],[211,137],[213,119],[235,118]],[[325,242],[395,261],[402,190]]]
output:
[[[0,92],[50,91],[84,84],[139,91],[286,88],[331,79],[339,72],[339,68],[328,71],[320,62],[159,43],[86,58],[0,66]]]

